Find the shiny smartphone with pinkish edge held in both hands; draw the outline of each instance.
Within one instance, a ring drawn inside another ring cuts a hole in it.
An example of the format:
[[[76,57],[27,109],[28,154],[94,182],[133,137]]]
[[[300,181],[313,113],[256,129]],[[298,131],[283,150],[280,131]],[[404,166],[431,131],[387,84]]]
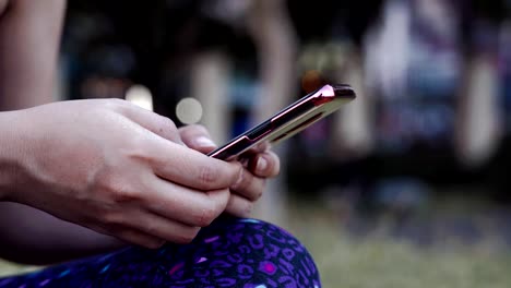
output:
[[[349,85],[324,85],[287,106],[266,121],[234,137],[209,156],[233,160],[263,142],[275,145],[337,110],[355,99]]]

